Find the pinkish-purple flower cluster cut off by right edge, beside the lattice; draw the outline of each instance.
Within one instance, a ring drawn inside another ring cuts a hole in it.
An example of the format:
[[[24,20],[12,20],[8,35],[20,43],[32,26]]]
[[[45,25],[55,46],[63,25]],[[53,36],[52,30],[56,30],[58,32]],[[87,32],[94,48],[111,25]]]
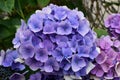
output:
[[[105,27],[111,36],[120,38],[120,14],[109,15],[105,20]]]

